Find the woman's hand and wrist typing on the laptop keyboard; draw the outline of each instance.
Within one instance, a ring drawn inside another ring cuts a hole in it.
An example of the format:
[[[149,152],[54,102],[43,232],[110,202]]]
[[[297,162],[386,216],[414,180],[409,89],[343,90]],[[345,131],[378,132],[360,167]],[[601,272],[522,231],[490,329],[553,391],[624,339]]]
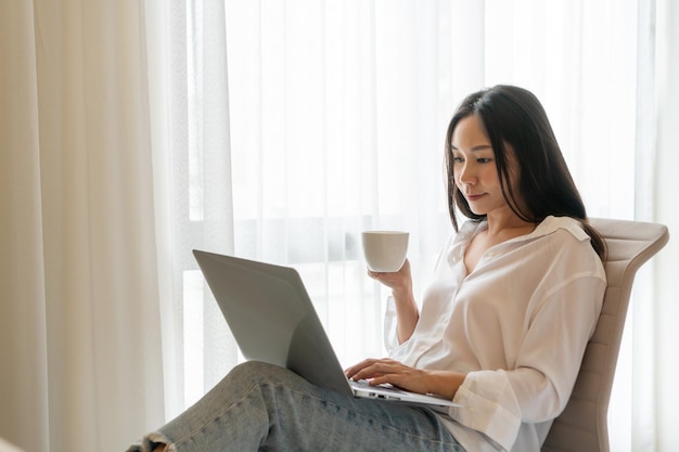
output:
[[[450,400],[464,380],[457,372],[427,371],[410,367],[398,361],[367,359],[345,371],[347,378],[366,379],[371,385],[392,384],[419,393],[436,393]]]

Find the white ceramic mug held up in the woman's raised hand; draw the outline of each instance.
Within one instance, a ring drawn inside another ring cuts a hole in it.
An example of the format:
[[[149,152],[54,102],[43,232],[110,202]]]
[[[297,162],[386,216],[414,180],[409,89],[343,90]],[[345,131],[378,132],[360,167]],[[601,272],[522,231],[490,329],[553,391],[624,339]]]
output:
[[[363,256],[375,272],[397,272],[406,261],[408,233],[402,231],[363,231]]]

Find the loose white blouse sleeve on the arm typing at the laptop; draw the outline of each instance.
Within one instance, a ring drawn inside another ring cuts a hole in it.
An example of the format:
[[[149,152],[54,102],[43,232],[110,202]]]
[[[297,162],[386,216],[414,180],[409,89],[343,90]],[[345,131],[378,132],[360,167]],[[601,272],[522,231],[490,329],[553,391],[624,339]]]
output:
[[[565,408],[587,341],[597,324],[605,281],[575,274],[547,294],[526,332],[512,370],[466,375],[450,409],[460,424],[510,450],[522,423],[556,417]]]

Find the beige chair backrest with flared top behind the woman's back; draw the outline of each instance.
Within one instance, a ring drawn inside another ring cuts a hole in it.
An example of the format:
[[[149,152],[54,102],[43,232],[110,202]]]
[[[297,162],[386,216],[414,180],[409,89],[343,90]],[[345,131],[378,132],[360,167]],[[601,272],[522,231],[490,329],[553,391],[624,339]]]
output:
[[[600,218],[590,221],[608,248],[607,287],[573,393],[554,419],[542,452],[608,452],[608,399],[635,274],[669,240],[663,224]]]

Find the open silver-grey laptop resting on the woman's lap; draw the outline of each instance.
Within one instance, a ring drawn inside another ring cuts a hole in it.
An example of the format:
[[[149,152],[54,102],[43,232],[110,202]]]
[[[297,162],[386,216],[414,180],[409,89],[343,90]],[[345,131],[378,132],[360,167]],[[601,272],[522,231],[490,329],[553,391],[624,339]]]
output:
[[[286,367],[347,396],[460,406],[435,395],[349,380],[295,269],[197,249],[193,255],[245,359]]]

